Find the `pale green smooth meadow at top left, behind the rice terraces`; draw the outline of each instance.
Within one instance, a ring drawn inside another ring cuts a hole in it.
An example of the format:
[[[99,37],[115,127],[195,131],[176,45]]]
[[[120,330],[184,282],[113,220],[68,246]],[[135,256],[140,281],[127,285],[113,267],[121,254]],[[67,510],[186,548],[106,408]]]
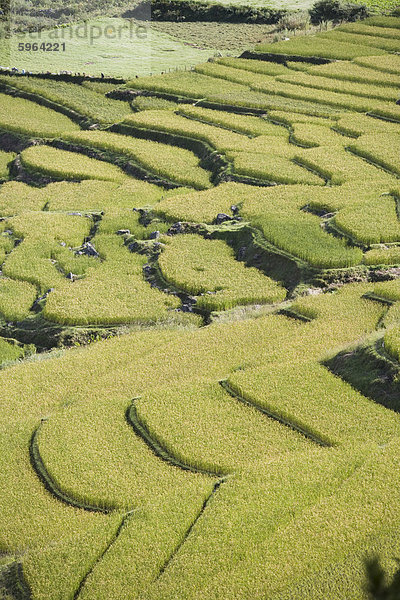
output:
[[[95,76],[104,73],[112,77],[134,77],[167,71],[169,68],[184,69],[207,60],[218,49],[218,40],[211,38],[209,47],[189,44],[184,36],[172,36],[170,29],[162,32],[143,21],[131,22],[107,16],[91,19],[86,15],[80,23],[45,29],[40,34],[34,32],[31,35],[13,36],[9,49],[7,44],[2,48],[0,63],[34,73],[68,70]],[[256,35],[253,33],[253,37]],[[66,44],[65,51],[18,51],[18,43],[21,42],[37,42],[40,45],[42,42],[63,41]]]

